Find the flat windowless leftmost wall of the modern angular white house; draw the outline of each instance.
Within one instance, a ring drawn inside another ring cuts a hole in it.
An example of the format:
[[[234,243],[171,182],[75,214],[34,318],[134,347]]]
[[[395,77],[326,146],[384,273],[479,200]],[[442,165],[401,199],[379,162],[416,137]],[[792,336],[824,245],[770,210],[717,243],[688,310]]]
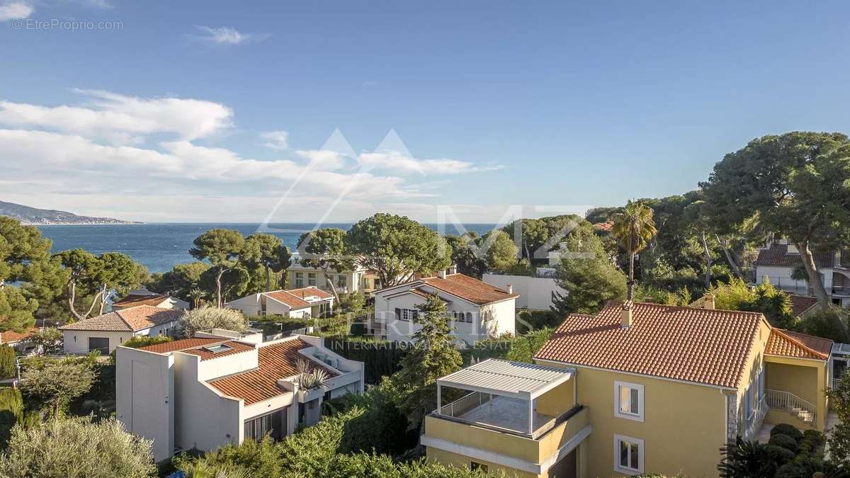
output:
[[[118,347],[116,417],[127,431],[153,440],[154,459],[174,450],[173,357]]]

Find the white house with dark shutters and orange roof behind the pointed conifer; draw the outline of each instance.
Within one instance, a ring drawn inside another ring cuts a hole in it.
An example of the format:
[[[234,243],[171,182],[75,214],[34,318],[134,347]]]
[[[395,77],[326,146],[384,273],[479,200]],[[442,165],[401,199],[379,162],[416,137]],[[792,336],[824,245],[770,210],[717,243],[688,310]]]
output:
[[[416,306],[436,294],[446,304],[452,334],[473,345],[481,339],[515,332],[516,299],[513,290],[491,286],[463,274],[440,272],[375,293],[376,334],[388,340],[410,342],[417,330]]]

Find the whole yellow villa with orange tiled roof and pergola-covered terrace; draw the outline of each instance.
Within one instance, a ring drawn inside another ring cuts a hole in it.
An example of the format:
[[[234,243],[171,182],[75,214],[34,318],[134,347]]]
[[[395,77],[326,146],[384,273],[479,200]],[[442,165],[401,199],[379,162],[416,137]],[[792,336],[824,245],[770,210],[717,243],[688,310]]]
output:
[[[736,435],[825,429],[831,347],[711,297],[611,303],[568,316],[534,365],[490,359],[440,378],[422,445],[431,460],[524,477],[717,476]]]

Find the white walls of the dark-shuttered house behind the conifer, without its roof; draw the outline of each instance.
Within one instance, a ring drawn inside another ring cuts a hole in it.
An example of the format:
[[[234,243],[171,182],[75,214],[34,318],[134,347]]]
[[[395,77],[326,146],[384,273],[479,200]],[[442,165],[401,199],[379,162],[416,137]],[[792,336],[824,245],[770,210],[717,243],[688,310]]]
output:
[[[465,344],[473,345],[481,339],[487,339],[501,333],[513,334],[515,332],[516,309],[514,299],[479,306],[449,294],[435,291],[427,286],[422,288],[428,292],[436,292],[441,299],[446,300],[446,309],[450,313],[463,312],[466,314],[470,312],[473,314],[473,322],[450,320],[449,325],[454,329],[452,334]],[[387,331],[388,340],[410,342],[412,335],[422,327],[413,321],[397,320],[395,309],[415,310],[416,305],[422,304],[425,298],[415,293],[404,293],[388,298],[389,295],[400,292],[402,292],[402,289],[375,294],[375,319],[386,324],[384,329]]]

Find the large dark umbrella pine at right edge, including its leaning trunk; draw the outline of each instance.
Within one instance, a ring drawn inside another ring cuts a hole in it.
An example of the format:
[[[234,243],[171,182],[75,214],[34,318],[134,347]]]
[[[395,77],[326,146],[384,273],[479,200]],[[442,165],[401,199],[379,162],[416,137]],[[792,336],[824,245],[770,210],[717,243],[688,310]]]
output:
[[[809,286],[819,304],[829,306],[812,250],[847,243],[850,233],[846,135],[792,132],[753,139],[717,162],[700,187],[718,224],[779,234],[796,244]]]

